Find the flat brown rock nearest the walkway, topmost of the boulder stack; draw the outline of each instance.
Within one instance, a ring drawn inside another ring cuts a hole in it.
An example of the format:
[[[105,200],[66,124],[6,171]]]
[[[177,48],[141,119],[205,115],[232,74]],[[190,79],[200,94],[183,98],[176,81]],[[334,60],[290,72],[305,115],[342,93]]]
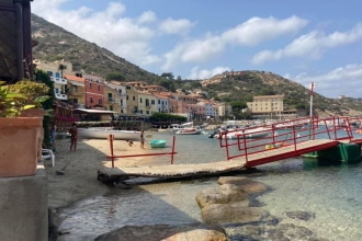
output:
[[[240,176],[220,176],[218,179],[218,184],[234,184],[244,191],[252,194],[252,193],[263,193],[268,190],[267,185],[260,183],[258,181],[253,181],[248,177],[240,177]]]

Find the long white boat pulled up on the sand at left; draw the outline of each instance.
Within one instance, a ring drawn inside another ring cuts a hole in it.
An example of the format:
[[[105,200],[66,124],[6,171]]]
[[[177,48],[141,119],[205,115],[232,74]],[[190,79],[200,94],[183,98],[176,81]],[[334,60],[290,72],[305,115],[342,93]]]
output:
[[[78,128],[78,137],[84,139],[106,139],[110,135],[117,140],[140,140],[140,131],[104,128]]]

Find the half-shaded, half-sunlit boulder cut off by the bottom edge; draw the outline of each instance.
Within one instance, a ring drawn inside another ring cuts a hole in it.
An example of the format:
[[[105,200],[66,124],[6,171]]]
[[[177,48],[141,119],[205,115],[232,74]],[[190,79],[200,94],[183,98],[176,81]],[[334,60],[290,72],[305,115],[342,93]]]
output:
[[[227,241],[218,226],[194,223],[188,226],[125,226],[99,236],[95,241]]]

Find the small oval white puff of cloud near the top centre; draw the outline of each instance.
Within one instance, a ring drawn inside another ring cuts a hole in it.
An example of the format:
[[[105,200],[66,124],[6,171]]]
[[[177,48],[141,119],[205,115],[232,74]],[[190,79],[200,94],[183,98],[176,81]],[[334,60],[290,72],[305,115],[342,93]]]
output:
[[[159,30],[167,34],[186,35],[194,24],[185,19],[167,19],[160,23]]]

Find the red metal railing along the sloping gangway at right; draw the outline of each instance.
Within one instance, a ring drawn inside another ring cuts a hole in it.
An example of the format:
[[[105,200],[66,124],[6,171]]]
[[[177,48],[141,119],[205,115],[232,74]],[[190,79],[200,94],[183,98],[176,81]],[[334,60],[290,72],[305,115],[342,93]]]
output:
[[[353,123],[359,124],[352,125]],[[355,133],[358,133],[358,126],[360,124],[359,117],[304,117],[262,126],[222,131],[218,134],[218,139],[219,147],[226,149],[227,160],[245,158],[247,162],[246,165],[248,165],[248,156],[286,146],[293,146],[294,156],[298,157],[297,145],[307,140],[329,139],[352,142],[353,131],[355,130]],[[326,147],[320,146],[320,149]],[[289,156],[290,154],[291,153],[289,153]]]

